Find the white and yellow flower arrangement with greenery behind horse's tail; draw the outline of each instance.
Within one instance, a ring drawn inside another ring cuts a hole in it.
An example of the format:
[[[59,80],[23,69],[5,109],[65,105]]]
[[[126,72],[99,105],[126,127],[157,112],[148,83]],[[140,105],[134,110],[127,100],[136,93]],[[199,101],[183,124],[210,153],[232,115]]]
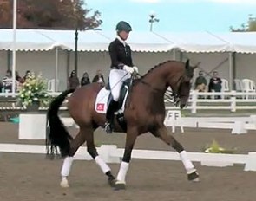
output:
[[[24,107],[33,104],[47,105],[49,94],[47,92],[47,82],[43,80],[42,75],[32,73],[24,81],[20,92],[19,100]]]

